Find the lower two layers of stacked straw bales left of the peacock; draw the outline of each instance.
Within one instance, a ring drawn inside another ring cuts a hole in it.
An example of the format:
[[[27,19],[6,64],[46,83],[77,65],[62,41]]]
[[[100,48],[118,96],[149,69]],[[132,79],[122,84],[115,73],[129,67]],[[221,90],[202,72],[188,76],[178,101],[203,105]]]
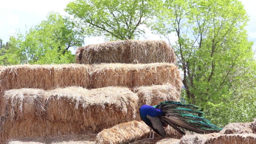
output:
[[[124,87],[17,89],[6,91],[4,101],[0,141],[99,132],[132,121],[138,110],[137,95]]]

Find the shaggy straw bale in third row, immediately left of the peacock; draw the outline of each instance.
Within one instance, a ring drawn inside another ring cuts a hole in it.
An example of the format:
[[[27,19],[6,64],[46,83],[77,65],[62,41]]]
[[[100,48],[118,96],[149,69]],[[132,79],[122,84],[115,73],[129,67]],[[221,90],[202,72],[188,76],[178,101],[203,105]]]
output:
[[[136,118],[138,97],[125,87],[85,90],[68,87],[48,91],[47,119],[79,122],[93,132]]]

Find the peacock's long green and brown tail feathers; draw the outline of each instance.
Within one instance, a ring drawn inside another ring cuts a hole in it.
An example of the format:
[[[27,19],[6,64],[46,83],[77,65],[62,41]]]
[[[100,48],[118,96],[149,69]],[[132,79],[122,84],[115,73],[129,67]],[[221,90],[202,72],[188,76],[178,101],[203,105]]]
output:
[[[164,120],[181,134],[185,133],[180,128],[197,133],[220,132],[221,130],[204,118],[204,112],[200,107],[192,104],[164,101],[154,108],[162,110],[165,113]]]

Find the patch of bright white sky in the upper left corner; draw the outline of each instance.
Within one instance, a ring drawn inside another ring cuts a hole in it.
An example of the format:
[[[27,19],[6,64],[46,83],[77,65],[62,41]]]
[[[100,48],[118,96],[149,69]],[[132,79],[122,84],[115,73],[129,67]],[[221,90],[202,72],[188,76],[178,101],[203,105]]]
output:
[[[20,29],[27,29],[46,19],[49,12],[68,15],[64,9],[71,0],[2,0],[0,8],[0,38],[7,42],[9,37]],[[12,33],[10,33],[12,32]]]

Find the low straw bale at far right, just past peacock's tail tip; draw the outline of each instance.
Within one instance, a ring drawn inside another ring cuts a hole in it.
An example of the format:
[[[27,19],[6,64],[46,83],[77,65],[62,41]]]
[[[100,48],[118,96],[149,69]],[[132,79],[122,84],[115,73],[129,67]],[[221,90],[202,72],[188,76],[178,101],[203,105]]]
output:
[[[253,133],[252,123],[231,123],[226,125],[220,134],[238,134],[238,133]]]

